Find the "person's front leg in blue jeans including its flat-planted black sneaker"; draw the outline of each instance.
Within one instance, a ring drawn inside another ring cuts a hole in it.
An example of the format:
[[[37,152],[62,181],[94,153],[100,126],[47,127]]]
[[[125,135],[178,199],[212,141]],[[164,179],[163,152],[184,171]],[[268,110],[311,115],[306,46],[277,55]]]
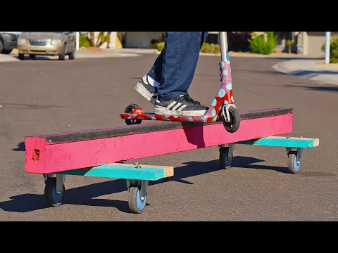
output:
[[[156,114],[201,116],[208,110],[188,94],[199,59],[199,49],[207,34],[208,32],[165,33],[161,84],[154,108]],[[156,67],[151,70],[156,70]],[[150,71],[149,76],[151,74],[156,77],[155,72]]]

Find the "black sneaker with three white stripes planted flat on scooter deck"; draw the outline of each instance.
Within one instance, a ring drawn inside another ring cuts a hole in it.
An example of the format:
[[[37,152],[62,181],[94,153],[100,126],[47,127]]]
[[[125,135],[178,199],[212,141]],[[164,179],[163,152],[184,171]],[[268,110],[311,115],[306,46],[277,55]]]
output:
[[[163,102],[156,100],[154,113],[173,116],[203,116],[208,109],[185,94]]]

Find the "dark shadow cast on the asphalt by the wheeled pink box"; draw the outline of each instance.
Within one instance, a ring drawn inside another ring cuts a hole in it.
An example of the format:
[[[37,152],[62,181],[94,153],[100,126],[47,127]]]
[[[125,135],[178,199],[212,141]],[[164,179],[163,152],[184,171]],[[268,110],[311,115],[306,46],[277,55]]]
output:
[[[273,167],[266,165],[253,165],[256,162],[263,162],[264,160],[256,159],[253,157],[234,157],[233,167],[246,168],[246,169],[273,169],[287,173],[285,167]],[[158,181],[149,182],[149,186],[154,186],[158,183],[165,183],[169,181],[176,181],[179,183],[190,183],[185,181],[184,178],[191,176],[198,176],[201,174],[208,174],[219,170],[219,161],[213,160],[208,162],[187,162],[186,166],[175,168],[175,174],[172,177],[161,179]],[[227,170],[224,170],[226,173]],[[127,185],[124,179],[115,179],[112,181],[105,181],[102,183],[94,183],[88,186],[81,186],[65,190],[64,204],[70,205],[88,205],[99,207],[115,207],[121,212],[130,212],[128,202],[122,200],[107,200],[96,199],[103,195],[113,193],[120,193],[127,190]],[[0,202],[0,208],[6,212],[32,212],[39,209],[49,208],[44,200],[44,195],[25,193],[10,197],[11,200]],[[63,204],[63,205],[64,205]],[[147,204],[148,205],[148,204]]]

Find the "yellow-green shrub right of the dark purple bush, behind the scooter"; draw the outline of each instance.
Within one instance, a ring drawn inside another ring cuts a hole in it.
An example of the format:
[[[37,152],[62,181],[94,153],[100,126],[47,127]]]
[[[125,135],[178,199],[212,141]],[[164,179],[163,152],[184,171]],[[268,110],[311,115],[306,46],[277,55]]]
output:
[[[253,53],[270,54],[277,46],[277,34],[274,32],[263,32],[263,34],[253,34],[249,39],[250,48]]]

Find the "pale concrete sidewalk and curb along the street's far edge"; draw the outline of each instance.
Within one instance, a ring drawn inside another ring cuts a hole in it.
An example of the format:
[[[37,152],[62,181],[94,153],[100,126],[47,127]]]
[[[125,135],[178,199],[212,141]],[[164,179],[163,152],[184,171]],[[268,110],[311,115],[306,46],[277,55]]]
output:
[[[144,54],[158,54],[157,49],[144,48],[123,48],[123,49],[80,49],[77,51],[76,58],[109,58],[109,57],[135,57]],[[1,62],[20,61],[18,59],[18,51],[14,49],[11,54],[0,54]],[[201,56],[220,57],[219,55],[210,53],[201,53]],[[324,58],[311,58],[301,56],[294,53],[272,53],[270,55],[261,55],[256,53],[239,53],[230,52],[230,59],[232,57],[249,57],[249,58],[275,58],[282,62],[273,65],[273,68],[285,74],[294,74],[298,77],[311,79],[323,84],[338,85],[338,63],[325,64]],[[37,59],[51,59],[58,60],[58,56],[37,56]]]

